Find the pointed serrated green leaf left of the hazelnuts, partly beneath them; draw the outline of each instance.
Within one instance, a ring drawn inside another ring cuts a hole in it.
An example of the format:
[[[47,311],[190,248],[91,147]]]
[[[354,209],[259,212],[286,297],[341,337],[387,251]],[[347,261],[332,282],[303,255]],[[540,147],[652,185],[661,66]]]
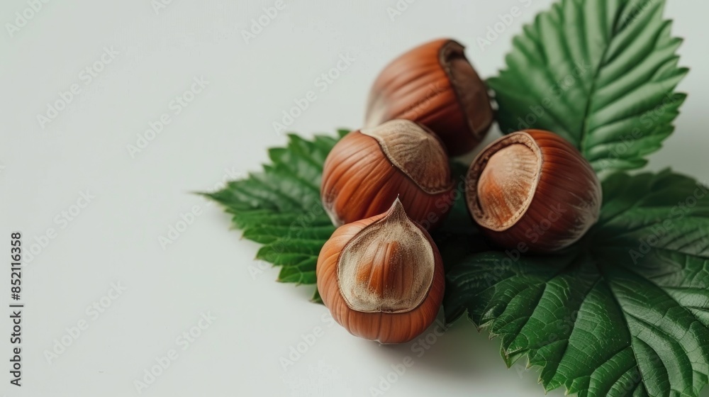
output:
[[[278,281],[316,283],[318,253],[335,231],[320,203],[323,163],[348,132],[339,130],[334,138],[316,135],[313,140],[289,134],[286,147],[269,150],[272,164],[264,164],[263,172],[203,194],[232,215],[243,237],[264,244],[256,257],[283,267]],[[313,301],[320,301],[317,291]]]

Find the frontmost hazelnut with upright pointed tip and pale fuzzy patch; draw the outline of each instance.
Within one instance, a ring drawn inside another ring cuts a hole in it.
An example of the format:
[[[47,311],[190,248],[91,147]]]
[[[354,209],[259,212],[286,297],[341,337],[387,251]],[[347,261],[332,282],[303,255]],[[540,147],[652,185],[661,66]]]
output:
[[[433,323],[443,299],[438,248],[398,199],[386,213],[335,230],[316,269],[333,318],[367,340],[413,340]]]

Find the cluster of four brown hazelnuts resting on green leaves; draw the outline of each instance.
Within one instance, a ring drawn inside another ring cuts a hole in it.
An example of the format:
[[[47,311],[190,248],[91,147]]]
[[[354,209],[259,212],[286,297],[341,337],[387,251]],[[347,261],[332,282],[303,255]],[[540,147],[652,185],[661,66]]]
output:
[[[333,147],[320,186],[339,228],[320,251],[318,290],[353,335],[408,342],[435,320],[445,276],[429,231],[452,208],[449,155],[473,150],[492,123],[486,86],[454,40],[415,47],[376,78],[364,128]],[[576,242],[601,206],[591,165],[542,130],[505,135],[482,150],[465,195],[491,242],[530,252]]]

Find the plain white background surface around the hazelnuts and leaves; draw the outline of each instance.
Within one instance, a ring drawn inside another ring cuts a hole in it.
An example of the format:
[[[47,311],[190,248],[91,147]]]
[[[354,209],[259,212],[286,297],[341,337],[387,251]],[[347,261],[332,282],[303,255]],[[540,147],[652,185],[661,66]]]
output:
[[[369,396],[379,377],[409,355],[415,364],[386,396],[542,396],[536,371],[525,372],[523,364],[507,370],[499,341],[466,320],[423,357],[411,344],[381,347],[328,328],[325,307],[308,302],[311,287],[274,282],[278,269],[252,259],[258,246],[228,230],[220,208],[189,192],[259,169],[267,147],[286,142],[272,123],[309,90],[318,99],[289,129],[311,135],[357,128],[376,73],[419,43],[457,38],[482,76],[495,74],[513,34],[551,1],[525,7],[518,0],[418,0],[393,21],[386,9],[395,0],[303,3],[286,1],[249,43],[242,30],[271,2],[174,0],[156,13],[150,0],[51,1],[13,37],[0,33],[0,246],[9,252],[11,230],[21,230],[26,247],[48,228],[56,233],[24,265],[21,388],[9,385],[11,324],[9,312],[0,313],[0,393],[136,396],[134,381],[174,349],[179,357],[143,395]],[[513,6],[523,15],[490,47],[478,47],[476,38]],[[27,7],[2,1],[0,22],[13,23]],[[690,96],[676,133],[649,164],[703,181],[708,12],[705,1],[669,1],[673,33],[686,38],[681,65],[692,71],[680,89]],[[82,70],[101,59],[104,47],[118,55],[85,84]],[[354,62],[321,92],[315,79],[345,54]],[[174,115],[170,102],[195,77],[208,85]],[[40,126],[37,115],[72,84],[81,94]],[[162,113],[171,123],[132,156],[127,145]],[[61,221],[86,191],[95,198]],[[193,206],[200,215],[163,249],[160,236]],[[0,279],[9,279],[9,269]],[[126,290],[104,298],[110,307],[98,318],[86,313],[111,283]],[[7,281],[0,285],[9,290]],[[9,300],[8,291],[0,301]],[[216,320],[182,350],[176,338],[198,325],[201,313]],[[49,363],[45,351],[67,340],[66,328],[80,320],[88,328]],[[324,335],[284,371],[280,357],[318,326]]]

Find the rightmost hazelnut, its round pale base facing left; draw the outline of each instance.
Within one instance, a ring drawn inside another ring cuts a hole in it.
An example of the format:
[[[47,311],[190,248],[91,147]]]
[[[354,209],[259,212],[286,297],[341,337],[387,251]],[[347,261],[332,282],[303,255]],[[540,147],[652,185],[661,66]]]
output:
[[[579,150],[557,134],[525,130],[492,142],[468,171],[476,223],[498,245],[521,252],[568,247],[601,210],[601,184]]]

